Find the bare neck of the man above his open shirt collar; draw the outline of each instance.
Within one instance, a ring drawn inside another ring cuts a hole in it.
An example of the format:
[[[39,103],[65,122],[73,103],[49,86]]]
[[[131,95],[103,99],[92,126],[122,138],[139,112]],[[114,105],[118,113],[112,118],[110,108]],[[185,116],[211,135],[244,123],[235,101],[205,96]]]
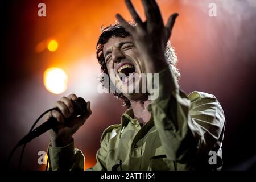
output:
[[[138,100],[138,101],[130,101],[131,108],[133,109],[134,119],[137,119],[139,123],[147,123],[150,121],[150,112],[147,110],[148,104],[151,103],[150,100]]]

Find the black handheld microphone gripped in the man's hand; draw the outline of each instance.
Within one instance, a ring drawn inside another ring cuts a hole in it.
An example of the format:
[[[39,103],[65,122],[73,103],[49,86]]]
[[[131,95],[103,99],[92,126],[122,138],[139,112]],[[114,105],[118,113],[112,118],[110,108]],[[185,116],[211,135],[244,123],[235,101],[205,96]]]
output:
[[[75,100],[75,101],[71,100],[71,101],[73,103],[74,112],[72,113],[72,115],[69,118],[65,119],[64,124],[73,118],[79,117],[80,115],[84,115],[87,110],[87,103],[85,102],[85,100],[83,98],[79,97],[79,98],[77,98],[77,100]],[[60,111],[58,108],[53,108],[51,110]],[[57,123],[58,123],[58,121],[56,118],[53,118],[53,117],[49,118],[48,121],[46,121],[42,125],[36,127],[36,129],[32,130],[25,137],[23,137],[18,142],[18,146],[30,142],[32,139],[39,137],[40,135],[42,135],[49,129],[52,129],[52,128],[54,129],[54,127],[57,126]]]

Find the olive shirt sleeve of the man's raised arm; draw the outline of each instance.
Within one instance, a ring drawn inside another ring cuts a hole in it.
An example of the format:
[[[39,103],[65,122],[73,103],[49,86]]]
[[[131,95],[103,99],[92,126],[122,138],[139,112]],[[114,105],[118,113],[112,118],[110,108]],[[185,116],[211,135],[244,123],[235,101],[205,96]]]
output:
[[[151,114],[170,160],[189,162],[222,142],[225,118],[212,94],[179,89],[170,67],[159,72],[159,97],[152,100]],[[221,147],[219,144],[218,147]]]

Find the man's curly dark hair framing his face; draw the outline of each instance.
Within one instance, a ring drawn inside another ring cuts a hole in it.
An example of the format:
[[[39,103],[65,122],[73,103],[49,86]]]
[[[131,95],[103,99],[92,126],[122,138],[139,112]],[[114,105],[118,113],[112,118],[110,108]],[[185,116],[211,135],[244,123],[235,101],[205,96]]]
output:
[[[129,22],[132,26],[136,26],[135,23]],[[96,56],[98,59],[98,63],[101,65],[101,73],[105,73],[109,76],[108,69],[106,67],[105,58],[103,55],[103,48],[104,44],[108,42],[108,40],[112,37],[121,37],[126,38],[127,36],[131,36],[131,34],[125,30],[125,28],[121,25],[121,23],[115,23],[111,24],[110,26],[104,28],[101,27],[101,35],[98,39],[97,46],[96,46]],[[170,41],[168,41],[165,51],[166,59],[168,60],[172,72],[174,73],[174,76],[176,79],[180,77],[179,70],[175,67],[177,64],[177,56],[174,52],[174,48],[171,46]],[[100,82],[104,84],[104,77],[100,77]],[[112,85],[112,81],[109,79],[109,88],[107,88],[110,92],[110,86]],[[104,84],[105,85],[105,84]],[[113,93],[115,97],[119,98],[121,101],[123,101],[123,106],[126,106],[129,108],[131,106],[130,101],[122,94],[122,93]]]

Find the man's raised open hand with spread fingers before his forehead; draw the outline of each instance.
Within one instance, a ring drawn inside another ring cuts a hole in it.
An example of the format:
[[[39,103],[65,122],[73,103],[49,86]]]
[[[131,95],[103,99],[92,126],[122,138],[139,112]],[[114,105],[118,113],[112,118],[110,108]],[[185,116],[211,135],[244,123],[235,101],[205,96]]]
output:
[[[146,21],[142,22],[131,1],[126,0],[125,2],[137,26],[131,26],[120,14],[117,14],[116,17],[133,36],[138,51],[143,60],[146,61],[146,72],[159,72],[168,65],[164,51],[178,14],[170,15],[166,26],[164,26],[162,15],[155,0],[142,0],[146,15]]]

